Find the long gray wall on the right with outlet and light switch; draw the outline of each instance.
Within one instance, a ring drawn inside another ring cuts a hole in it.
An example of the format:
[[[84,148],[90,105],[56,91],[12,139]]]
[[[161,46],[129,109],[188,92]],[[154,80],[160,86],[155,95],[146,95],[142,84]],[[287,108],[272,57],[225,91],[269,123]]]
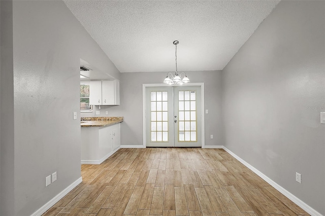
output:
[[[222,71],[225,147],[323,215],[324,39],[324,1],[281,1]]]

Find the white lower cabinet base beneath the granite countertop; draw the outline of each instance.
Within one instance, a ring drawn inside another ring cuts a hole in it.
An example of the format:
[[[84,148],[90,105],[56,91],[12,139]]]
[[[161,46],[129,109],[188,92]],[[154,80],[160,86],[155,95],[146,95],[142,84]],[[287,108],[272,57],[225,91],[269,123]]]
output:
[[[101,164],[120,145],[120,123],[107,127],[81,127],[81,164]]]

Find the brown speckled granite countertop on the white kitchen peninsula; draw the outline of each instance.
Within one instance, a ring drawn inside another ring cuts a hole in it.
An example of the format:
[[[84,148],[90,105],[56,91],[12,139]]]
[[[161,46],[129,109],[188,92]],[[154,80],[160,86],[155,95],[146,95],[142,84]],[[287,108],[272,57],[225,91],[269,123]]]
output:
[[[123,117],[81,117],[81,127],[106,127],[123,122]]]

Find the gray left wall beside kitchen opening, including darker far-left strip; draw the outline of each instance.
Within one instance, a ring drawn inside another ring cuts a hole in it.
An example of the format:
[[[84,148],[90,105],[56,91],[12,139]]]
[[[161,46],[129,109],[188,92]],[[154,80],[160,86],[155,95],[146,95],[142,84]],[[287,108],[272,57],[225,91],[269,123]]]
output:
[[[1,1],[1,9],[0,214],[30,215],[81,176],[80,58],[120,73],[63,2]]]

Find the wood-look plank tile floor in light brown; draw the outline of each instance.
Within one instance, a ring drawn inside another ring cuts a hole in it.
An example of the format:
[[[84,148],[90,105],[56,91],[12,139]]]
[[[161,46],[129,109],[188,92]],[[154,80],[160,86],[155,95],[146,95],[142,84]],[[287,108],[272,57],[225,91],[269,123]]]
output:
[[[221,149],[120,149],[43,215],[309,215]]]

